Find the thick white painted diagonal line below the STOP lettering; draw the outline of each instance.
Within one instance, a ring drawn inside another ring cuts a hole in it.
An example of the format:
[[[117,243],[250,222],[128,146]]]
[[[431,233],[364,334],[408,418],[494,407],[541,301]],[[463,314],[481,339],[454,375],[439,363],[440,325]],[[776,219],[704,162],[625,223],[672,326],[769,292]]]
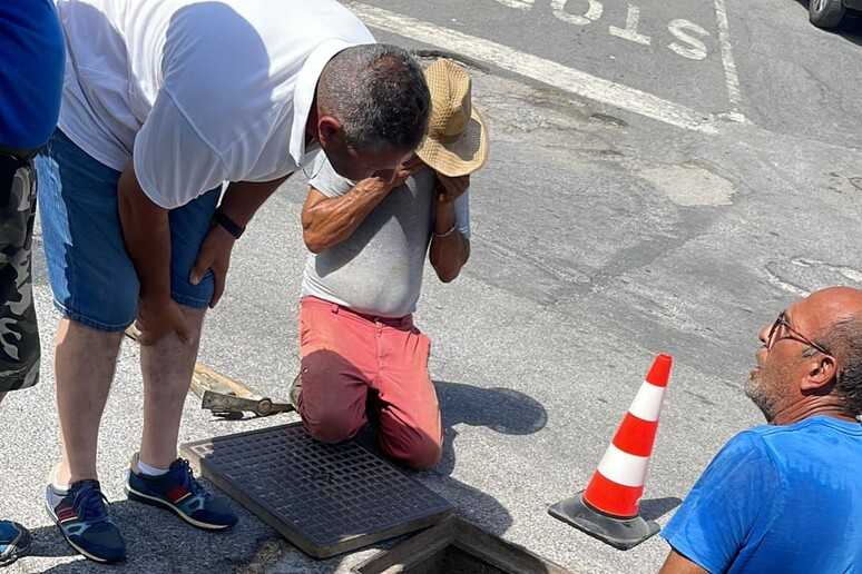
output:
[[[346,2],[356,16],[379,30],[459,52],[561,90],[652,118],[678,128],[717,133],[714,118],[652,93],[519,52],[483,38],[441,28],[382,8]]]

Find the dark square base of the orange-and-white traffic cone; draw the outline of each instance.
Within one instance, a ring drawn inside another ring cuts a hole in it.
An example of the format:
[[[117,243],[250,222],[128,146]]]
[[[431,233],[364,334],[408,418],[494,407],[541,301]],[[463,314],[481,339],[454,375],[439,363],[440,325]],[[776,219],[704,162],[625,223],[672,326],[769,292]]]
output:
[[[660,530],[658,524],[647,522],[640,516],[614,518],[594,511],[584,504],[582,493],[584,491],[571,498],[558,502],[548,508],[548,514],[618,550],[634,548],[658,534]]]

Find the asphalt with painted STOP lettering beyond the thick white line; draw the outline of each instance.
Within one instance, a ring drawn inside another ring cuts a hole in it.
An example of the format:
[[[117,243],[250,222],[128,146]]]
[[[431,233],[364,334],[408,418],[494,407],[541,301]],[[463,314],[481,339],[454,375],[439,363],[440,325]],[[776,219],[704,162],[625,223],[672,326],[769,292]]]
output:
[[[363,4],[699,111],[738,107],[772,131],[851,147],[862,141],[856,89],[862,20],[849,18],[837,33],[824,32],[809,23],[799,0],[438,0],[433,10],[419,0]],[[738,76],[738,97],[728,92],[728,63]]]

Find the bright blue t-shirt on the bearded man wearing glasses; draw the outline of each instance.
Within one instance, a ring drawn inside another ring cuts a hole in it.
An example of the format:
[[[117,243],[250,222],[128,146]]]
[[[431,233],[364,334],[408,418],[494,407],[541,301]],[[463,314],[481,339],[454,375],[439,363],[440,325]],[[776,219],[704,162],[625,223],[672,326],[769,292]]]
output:
[[[816,416],[736,435],[663,536],[711,573],[862,572],[862,425]]]

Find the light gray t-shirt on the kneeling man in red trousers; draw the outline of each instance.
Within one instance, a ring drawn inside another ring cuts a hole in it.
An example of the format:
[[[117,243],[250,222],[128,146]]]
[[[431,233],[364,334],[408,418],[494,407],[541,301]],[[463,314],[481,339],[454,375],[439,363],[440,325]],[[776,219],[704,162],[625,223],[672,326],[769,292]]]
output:
[[[350,191],[355,182],[337,175],[321,151],[310,185],[326,197]],[[409,178],[365,218],[351,237],[311,254],[302,281],[303,296],[332,301],[379,317],[415,311],[422,271],[434,222],[431,169]],[[468,192],[456,200],[456,226],[470,237]]]

